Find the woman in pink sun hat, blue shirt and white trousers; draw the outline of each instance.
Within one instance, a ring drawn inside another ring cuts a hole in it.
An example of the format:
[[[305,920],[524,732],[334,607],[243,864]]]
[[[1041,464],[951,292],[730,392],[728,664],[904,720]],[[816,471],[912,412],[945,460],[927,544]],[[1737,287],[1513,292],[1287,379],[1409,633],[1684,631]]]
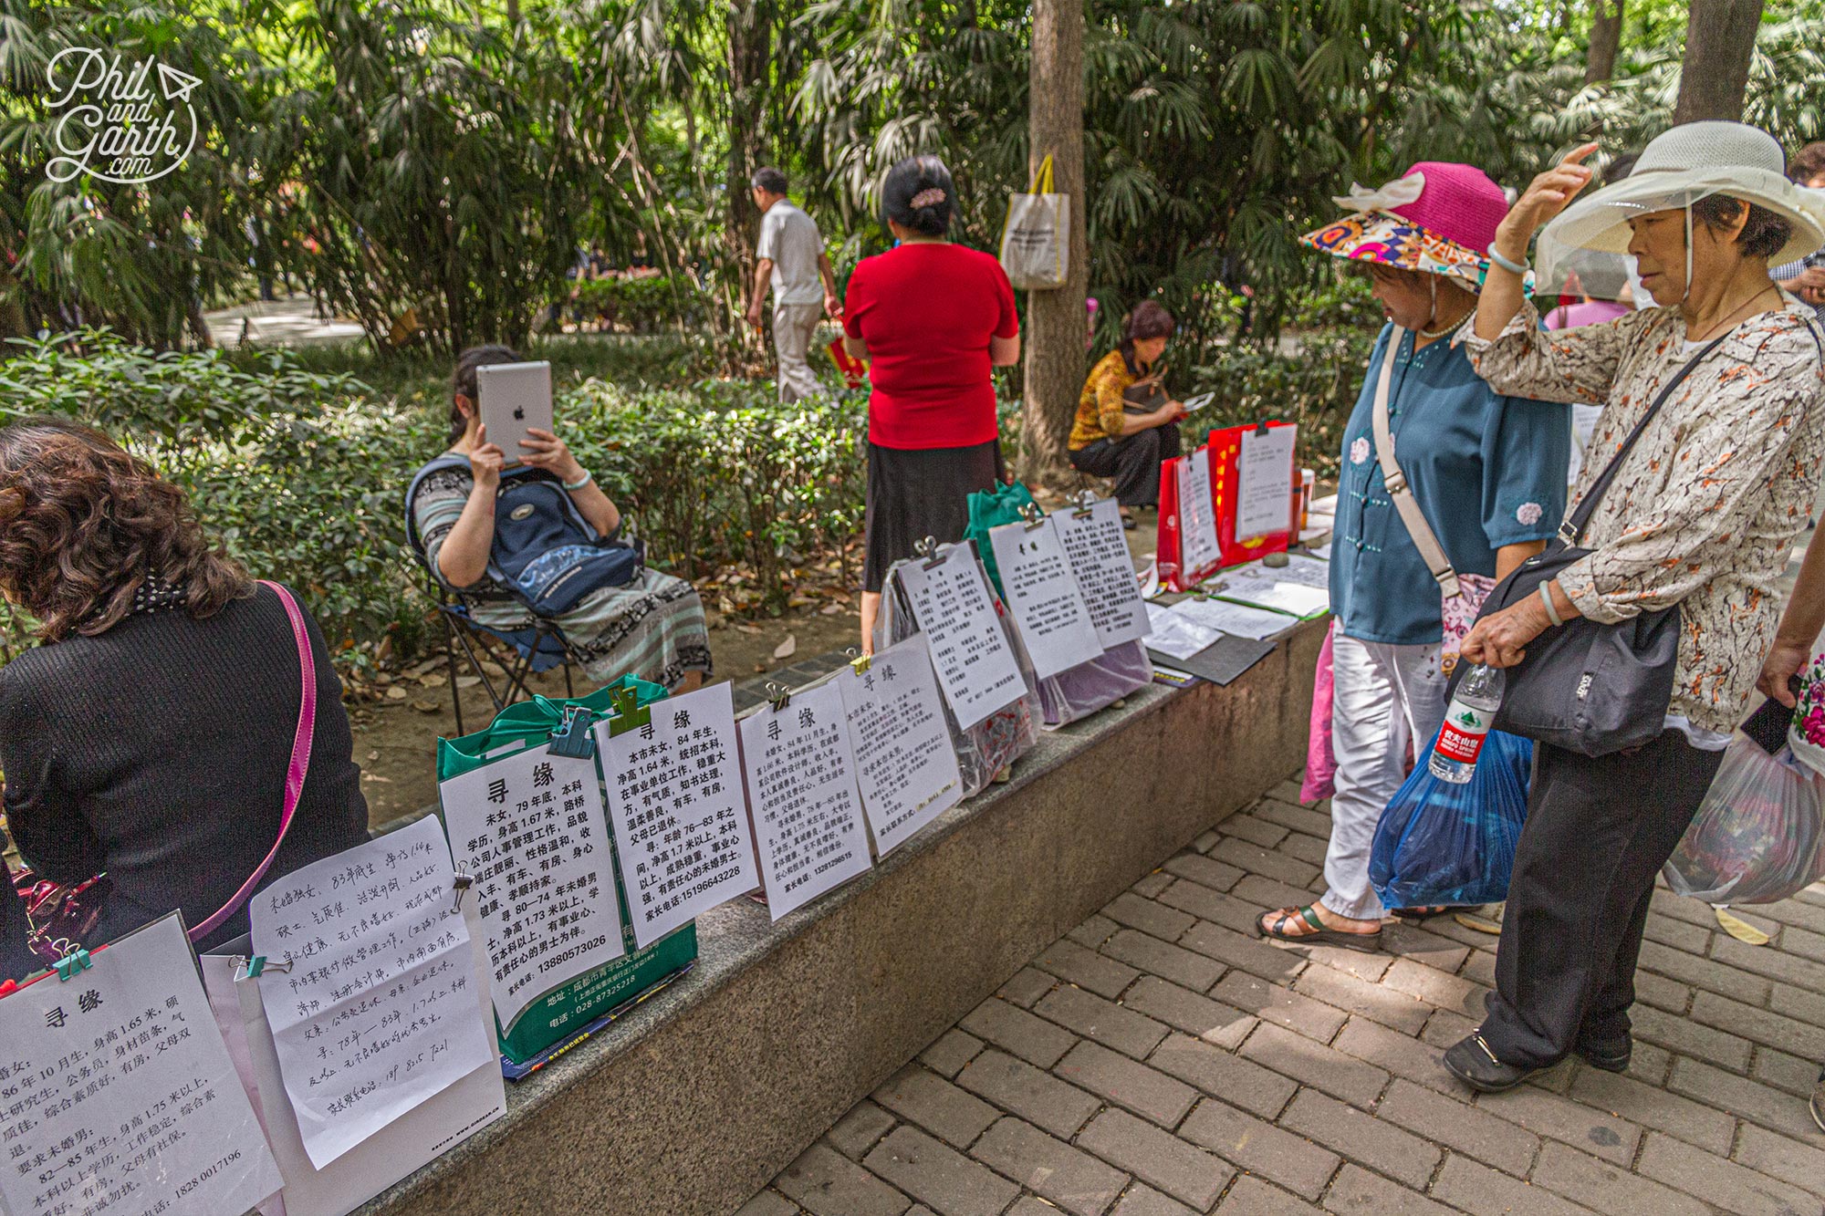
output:
[[[1380,190],[1352,186],[1349,214],[1301,237],[1365,263],[1387,327],[1343,433],[1330,550],[1336,794],[1323,898],[1265,913],[1285,942],[1376,949],[1389,909],[1369,847],[1445,716],[1447,634],[1500,575],[1538,553],[1566,508],[1570,411],[1493,393],[1451,341],[1476,307],[1484,252],[1507,197],[1469,164],[1422,161]],[[1389,451],[1376,440],[1385,394]],[[1389,493],[1387,467],[1398,502]],[[1409,519],[1411,517],[1411,519]],[[1398,909],[1416,917],[1438,909]]]

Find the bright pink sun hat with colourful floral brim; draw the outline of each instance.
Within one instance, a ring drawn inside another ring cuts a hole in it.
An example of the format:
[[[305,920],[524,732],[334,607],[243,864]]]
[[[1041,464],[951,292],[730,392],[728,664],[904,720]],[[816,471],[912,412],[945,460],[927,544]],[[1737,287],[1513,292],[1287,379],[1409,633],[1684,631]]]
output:
[[[1334,257],[1444,274],[1471,290],[1482,287],[1507,214],[1507,195],[1487,173],[1449,161],[1420,161],[1380,190],[1352,183],[1336,203],[1350,214],[1299,241]]]

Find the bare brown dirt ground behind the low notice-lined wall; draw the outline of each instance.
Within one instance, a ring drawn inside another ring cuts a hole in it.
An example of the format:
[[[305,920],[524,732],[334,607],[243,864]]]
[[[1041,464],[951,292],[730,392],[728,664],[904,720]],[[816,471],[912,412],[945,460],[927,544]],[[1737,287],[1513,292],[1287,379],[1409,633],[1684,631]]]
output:
[[[829,615],[790,612],[777,619],[754,623],[728,617],[712,619],[710,654],[715,661],[712,683],[750,679],[810,655],[854,646],[860,639],[861,621],[856,597],[849,597],[849,601],[843,612]],[[776,659],[774,652],[787,637],[794,641],[792,654]],[[398,687],[402,697],[350,708],[354,761],[361,765],[361,792],[367,794],[369,823],[380,825],[436,802],[438,738],[456,734],[447,672],[442,655],[427,659],[389,681],[389,690]],[[473,676],[465,676],[465,681],[473,679]],[[564,696],[564,672],[551,670],[535,676],[531,685],[535,692]],[[577,694],[582,696],[593,688],[595,685],[577,672]],[[495,714],[487,692],[478,683],[462,688],[462,707],[465,730],[480,730]]]

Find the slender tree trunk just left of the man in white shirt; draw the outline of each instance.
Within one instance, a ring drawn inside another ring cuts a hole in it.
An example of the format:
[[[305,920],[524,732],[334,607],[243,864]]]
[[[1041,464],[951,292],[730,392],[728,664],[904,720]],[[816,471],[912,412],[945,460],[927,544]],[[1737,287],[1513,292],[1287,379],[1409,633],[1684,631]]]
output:
[[[735,351],[752,363],[761,354],[759,330],[748,329],[743,310],[754,288],[754,195],[748,181],[766,155],[763,142],[766,111],[766,77],[772,58],[772,2],[732,0],[728,5],[728,210],[723,219],[725,274],[728,294],[728,323],[734,327]],[[752,371],[752,369],[730,369]]]

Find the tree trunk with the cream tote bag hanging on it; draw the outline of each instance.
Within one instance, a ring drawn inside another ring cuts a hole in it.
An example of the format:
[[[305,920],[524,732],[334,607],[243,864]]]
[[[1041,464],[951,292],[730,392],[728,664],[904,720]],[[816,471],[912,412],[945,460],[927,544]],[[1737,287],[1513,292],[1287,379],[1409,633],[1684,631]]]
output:
[[[1027,482],[1064,486],[1066,440],[1084,389],[1084,0],[1035,0],[1029,77],[1027,172],[1051,153],[1053,190],[1071,199],[1069,274],[1064,287],[1027,292],[1026,400],[1020,471]]]

